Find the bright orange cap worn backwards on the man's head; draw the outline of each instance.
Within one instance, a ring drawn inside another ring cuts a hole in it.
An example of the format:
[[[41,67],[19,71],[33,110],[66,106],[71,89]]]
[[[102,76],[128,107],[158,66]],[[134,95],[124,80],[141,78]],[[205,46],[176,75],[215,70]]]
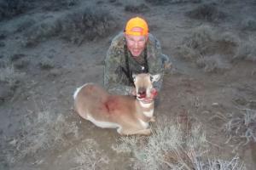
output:
[[[140,17],[128,20],[125,26],[125,34],[133,36],[148,36],[148,24]]]

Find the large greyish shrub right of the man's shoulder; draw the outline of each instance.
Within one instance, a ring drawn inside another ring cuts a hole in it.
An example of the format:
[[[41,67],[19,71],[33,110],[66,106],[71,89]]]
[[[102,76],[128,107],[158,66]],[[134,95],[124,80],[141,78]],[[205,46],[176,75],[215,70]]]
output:
[[[195,61],[207,72],[224,71],[237,53],[241,39],[230,31],[219,32],[210,26],[199,26],[185,37],[177,56]]]

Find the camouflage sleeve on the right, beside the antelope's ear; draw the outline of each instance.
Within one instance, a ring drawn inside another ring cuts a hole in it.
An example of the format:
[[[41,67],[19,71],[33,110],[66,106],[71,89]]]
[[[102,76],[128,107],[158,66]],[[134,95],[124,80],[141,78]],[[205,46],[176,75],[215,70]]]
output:
[[[164,77],[164,67],[161,60],[162,50],[160,47],[160,42],[154,39],[152,47],[148,48],[148,69],[150,74],[160,74],[160,80],[154,82],[153,86],[159,92],[162,86]]]

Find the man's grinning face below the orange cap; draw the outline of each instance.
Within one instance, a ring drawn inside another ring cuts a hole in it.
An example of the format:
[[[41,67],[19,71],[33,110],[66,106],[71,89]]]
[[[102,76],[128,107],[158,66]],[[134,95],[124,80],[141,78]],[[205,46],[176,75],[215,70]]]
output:
[[[146,42],[148,40],[147,36],[133,36],[125,35],[127,48],[134,57],[139,56],[143,53],[144,48],[146,47]]]

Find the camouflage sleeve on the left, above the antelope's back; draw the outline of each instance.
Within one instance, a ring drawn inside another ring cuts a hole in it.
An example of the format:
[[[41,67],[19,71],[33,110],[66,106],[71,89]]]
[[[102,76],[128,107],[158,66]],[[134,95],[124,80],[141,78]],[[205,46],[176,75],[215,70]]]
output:
[[[131,94],[133,87],[126,86],[122,82],[120,66],[123,66],[123,50],[112,42],[105,59],[104,87],[111,94]]]

